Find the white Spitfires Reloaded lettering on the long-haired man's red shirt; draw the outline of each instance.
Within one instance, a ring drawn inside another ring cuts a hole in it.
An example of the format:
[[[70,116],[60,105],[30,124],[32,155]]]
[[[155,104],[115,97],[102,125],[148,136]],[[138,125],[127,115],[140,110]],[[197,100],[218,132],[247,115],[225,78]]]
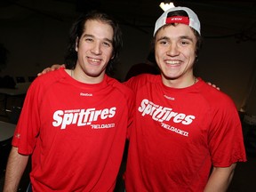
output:
[[[68,124],[76,124],[77,126],[90,125],[92,122],[96,122],[100,119],[112,118],[115,115],[116,107],[100,110],[96,110],[95,108],[57,110],[53,114],[54,121],[52,122],[52,125],[54,127],[60,126],[60,129],[66,129]],[[109,128],[109,126],[110,125],[105,124],[103,127],[98,125],[96,127],[92,126],[92,128]],[[111,124],[110,127],[113,127],[113,124]]]

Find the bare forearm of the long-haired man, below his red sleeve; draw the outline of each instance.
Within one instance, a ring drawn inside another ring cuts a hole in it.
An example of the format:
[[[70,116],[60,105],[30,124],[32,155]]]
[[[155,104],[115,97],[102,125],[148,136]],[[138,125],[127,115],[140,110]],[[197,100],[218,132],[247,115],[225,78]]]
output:
[[[20,179],[28,164],[29,156],[22,156],[18,153],[18,148],[12,147],[4,180],[4,192],[14,192],[18,190]]]

